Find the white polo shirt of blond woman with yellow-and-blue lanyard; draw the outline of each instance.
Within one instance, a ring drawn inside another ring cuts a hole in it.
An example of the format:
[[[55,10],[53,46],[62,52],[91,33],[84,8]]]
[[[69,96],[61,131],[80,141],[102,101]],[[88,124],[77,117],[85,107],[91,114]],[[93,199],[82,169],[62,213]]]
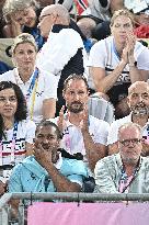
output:
[[[30,85],[32,82],[33,75],[27,82],[23,82],[19,76],[18,69],[7,71],[0,76],[0,81],[12,81],[21,88],[24,95],[26,95]],[[43,120],[42,109],[43,101],[46,99],[57,99],[57,79],[54,75],[47,72],[39,72],[37,89],[35,93],[35,104],[33,110],[33,121],[39,123]],[[31,119],[30,111],[33,105],[33,92],[27,100],[28,119]]]

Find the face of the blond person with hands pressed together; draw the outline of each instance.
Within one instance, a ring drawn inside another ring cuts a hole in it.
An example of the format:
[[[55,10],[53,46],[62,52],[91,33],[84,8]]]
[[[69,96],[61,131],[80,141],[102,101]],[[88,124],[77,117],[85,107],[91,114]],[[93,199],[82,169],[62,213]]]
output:
[[[133,33],[133,23],[126,15],[119,15],[111,26],[112,35],[116,43],[125,44],[127,36]]]

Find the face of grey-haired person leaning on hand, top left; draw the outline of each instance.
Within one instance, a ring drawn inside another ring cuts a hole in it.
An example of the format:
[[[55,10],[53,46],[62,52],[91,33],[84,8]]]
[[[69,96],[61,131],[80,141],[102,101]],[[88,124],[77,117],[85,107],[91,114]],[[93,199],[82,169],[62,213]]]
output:
[[[12,15],[12,19],[15,20],[20,25],[33,27],[36,23],[36,13],[33,7],[28,7],[24,10],[15,12]]]

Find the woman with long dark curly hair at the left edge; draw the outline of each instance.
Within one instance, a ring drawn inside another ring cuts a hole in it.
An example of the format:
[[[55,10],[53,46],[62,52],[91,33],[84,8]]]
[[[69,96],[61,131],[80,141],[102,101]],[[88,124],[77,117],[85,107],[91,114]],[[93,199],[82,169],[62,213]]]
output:
[[[26,112],[25,99],[20,87],[10,81],[0,82],[0,181],[2,183],[8,180],[13,166],[32,154],[35,124],[26,120]]]

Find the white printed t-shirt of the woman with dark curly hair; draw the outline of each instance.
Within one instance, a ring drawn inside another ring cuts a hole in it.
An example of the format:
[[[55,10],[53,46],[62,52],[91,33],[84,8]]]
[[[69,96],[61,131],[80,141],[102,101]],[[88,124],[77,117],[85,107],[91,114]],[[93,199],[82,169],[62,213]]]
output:
[[[2,169],[0,169],[0,180],[2,182],[5,182],[5,180],[9,179],[11,175],[11,168],[7,168],[3,166],[8,165],[16,165],[20,161],[22,161],[25,158],[26,149],[25,144],[30,143],[33,144],[33,138],[35,137],[35,130],[36,125],[33,121],[21,121],[18,124],[16,130],[16,138],[15,138],[15,145],[14,145],[14,154],[13,154],[13,161],[12,161],[12,138],[14,131],[13,128],[5,131],[5,139],[2,138],[1,142],[1,149],[2,155],[0,154],[0,166],[2,166]]]

